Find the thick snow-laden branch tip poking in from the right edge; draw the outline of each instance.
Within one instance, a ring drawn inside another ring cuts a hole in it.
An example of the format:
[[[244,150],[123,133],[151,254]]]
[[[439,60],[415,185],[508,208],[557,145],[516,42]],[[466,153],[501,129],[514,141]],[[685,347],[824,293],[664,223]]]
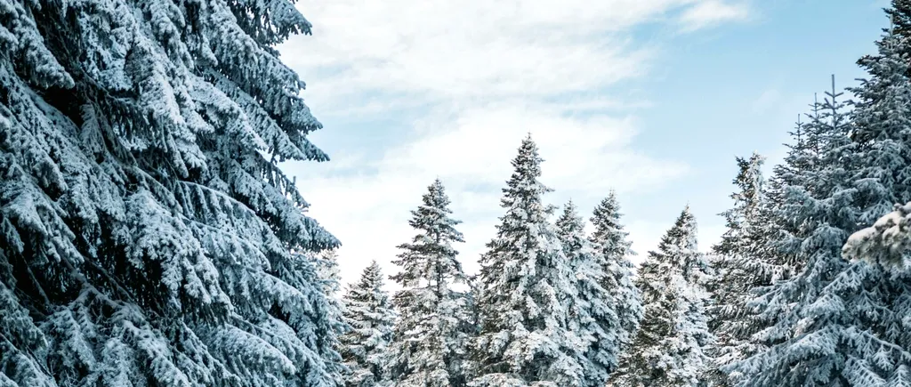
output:
[[[886,267],[907,268],[911,262],[904,260],[911,248],[911,203],[885,214],[876,223],[861,229],[844,243],[842,254],[848,260],[879,262]]]

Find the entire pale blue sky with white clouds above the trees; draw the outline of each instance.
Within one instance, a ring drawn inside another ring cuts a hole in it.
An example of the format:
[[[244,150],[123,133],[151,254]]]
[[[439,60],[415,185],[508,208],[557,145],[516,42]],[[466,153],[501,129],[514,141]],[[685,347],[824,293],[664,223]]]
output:
[[[886,0],[303,0],[312,36],[280,47],[333,158],[285,165],[343,242],[344,282],[387,274],[439,177],[466,270],[493,237],[509,160],[531,133],[547,200],[586,218],[618,191],[634,250],[689,203],[723,231],[735,156],[778,162],[814,92],[856,84]]]

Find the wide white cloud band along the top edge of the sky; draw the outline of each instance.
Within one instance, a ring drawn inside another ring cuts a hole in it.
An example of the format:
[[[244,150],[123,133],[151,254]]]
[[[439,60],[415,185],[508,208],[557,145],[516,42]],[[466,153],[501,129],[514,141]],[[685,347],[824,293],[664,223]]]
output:
[[[335,0],[298,5],[314,36],[281,47],[309,96],[539,97],[607,87],[648,70],[656,47],[630,28],[683,7],[688,29],[742,18],[719,0]],[[320,85],[324,85],[320,86]]]

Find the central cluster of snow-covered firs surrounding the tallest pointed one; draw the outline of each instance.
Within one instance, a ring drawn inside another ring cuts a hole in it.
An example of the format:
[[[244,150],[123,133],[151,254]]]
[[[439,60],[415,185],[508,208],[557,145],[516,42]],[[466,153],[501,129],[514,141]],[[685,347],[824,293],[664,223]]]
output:
[[[409,224],[388,278],[373,260],[343,296],[341,352],[350,386],[603,386],[619,367],[641,318],[628,233],[611,191],[594,209],[586,235],[569,201],[542,202],[551,191],[529,135],[504,188],[496,237],[481,270],[469,277],[453,244],[463,242],[437,178]],[[689,214],[688,210],[684,213]],[[694,229],[693,229],[694,231]],[[455,290],[463,285],[467,290]]]

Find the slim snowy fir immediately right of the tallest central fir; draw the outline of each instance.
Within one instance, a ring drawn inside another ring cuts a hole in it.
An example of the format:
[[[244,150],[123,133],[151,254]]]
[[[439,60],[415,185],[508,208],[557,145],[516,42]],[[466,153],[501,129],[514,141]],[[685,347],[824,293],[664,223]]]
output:
[[[563,253],[569,268],[575,273],[578,297],[569,308],[569,328],[582,340],[584,351],[578,353],[583,366],[582,385],[603,387],[610,372],[617,368],[621,331],[613,299],[605,283],[607,262],[598,254],[585,236],[585,222],[578,216],[576,205],[570,200],[557,219],[557,234],[563,244]]]

